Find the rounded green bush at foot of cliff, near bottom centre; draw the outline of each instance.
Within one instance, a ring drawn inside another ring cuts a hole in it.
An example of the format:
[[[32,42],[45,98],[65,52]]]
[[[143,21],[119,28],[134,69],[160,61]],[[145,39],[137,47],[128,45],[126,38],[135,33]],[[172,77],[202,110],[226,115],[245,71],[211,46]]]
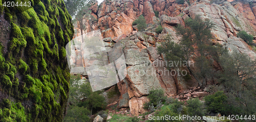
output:
[[[164,96],[163,89],[151,89],[147,97],[150,100],[150,102],[144,104],[145,109],[149,109],[150,107],[152,108],[152,106],[155,107],[161,102],[164,103],[166,100],[166,96]]]

